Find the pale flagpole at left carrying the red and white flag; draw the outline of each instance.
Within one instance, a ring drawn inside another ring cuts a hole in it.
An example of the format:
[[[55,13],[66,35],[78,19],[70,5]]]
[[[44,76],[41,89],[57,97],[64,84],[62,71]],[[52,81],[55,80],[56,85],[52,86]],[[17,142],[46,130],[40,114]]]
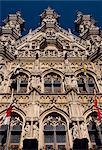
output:
[[[10,105],[13,103],[13,91],[14,89],[12,88]],[[10,141],[10,132],[11,132],[10,129],[11,129],[11,117],[9,120],[9,124],[7,125],[6,150],[9,150],[9,141]]]

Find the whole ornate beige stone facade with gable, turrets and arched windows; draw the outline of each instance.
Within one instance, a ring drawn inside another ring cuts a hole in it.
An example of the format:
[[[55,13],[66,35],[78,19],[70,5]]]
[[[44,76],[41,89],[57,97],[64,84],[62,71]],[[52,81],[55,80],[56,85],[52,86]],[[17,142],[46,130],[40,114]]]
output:
[[[25,140],[34,139],[38,150],[70,150],[76,139],[88,139],[89,149],[101,149],[102,30],[81,12],[75,20],[79,36],[61,28],[50,7],[40,17],[41,25],[23,37],[20,12],[0,28],[2,133],[2,116],[13,102],[4,146],[22,150]]]

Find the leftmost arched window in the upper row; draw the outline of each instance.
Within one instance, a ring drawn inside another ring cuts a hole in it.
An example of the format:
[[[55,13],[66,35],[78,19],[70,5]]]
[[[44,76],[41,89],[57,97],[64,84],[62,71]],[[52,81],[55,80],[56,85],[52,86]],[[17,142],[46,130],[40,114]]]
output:
[[[13,75],[11,87],[14,89],[14,93],[27,92],[28,76],[25,73]]]

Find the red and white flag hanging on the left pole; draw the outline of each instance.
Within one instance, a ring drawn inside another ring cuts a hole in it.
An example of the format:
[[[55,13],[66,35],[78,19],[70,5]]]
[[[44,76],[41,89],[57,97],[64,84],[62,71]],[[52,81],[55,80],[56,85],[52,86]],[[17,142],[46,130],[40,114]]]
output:
[[[3,125],[9,125],[10,124],[10,118],[11,118],[11,112],[12,112],[12,104],[7,108],[6,114],[3,117]]]

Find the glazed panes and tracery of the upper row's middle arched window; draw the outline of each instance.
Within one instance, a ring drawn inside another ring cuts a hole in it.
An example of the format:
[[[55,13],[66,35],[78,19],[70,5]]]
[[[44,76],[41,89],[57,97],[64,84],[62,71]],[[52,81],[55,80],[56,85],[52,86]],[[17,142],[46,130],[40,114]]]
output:
[[[44,77],[45,93],[60,93],[61,92],[61,77],[55,73],[49,73]]]

